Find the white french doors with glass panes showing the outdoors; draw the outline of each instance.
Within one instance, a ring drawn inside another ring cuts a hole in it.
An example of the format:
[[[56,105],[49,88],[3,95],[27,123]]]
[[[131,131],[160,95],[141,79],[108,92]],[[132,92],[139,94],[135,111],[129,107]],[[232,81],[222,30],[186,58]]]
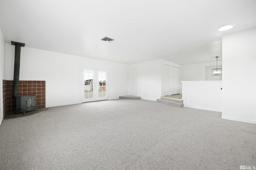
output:
[[[82,68],[81,102],[108,100],[108,70]]]

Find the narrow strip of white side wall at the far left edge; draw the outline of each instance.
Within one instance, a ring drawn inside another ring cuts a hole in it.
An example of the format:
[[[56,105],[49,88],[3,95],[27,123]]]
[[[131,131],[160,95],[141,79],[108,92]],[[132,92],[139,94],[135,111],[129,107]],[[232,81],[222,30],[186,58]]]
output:
[[[3,84],[2,80],[5,79],[5,43],[2,31],[0,29],[0,125],[3,120]]]

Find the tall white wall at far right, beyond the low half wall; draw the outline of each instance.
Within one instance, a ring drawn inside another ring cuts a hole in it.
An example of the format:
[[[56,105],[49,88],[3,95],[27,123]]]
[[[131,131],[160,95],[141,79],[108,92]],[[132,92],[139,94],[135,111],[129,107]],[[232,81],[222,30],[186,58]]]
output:
[[[222,38],[222,118],[256,123],[256,28]]]

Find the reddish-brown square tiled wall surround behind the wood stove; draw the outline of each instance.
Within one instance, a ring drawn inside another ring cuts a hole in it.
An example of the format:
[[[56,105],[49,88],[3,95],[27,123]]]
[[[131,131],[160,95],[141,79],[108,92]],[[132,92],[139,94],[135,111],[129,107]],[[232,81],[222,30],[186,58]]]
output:
[[[7,112],[13,112],[16,101],[12,97],[13,80],[3,80],[3,111],[4,117]],[[19,96],[36,94],[36,107],[45,107],[45,81],[19,81]]]

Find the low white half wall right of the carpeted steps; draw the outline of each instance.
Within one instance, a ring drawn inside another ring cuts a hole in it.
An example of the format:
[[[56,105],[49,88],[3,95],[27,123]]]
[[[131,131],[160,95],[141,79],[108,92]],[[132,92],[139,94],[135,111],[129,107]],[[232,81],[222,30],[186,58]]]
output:
[[[222,81],[182,81],[184,107],[222,111]]]

